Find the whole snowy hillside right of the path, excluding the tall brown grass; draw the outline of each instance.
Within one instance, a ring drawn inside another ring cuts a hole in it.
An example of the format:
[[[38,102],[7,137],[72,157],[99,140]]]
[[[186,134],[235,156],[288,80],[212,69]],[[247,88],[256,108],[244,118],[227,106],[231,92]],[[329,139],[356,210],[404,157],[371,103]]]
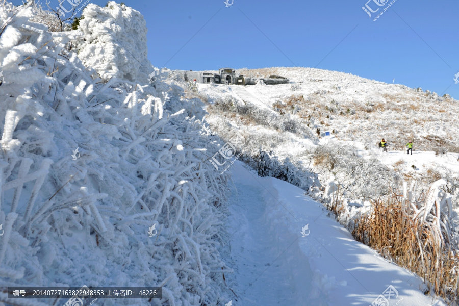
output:
[[[456,267],[459,150],[454,141],[459,126],[453,114],[459,113],[457,101],[334,71],[267,68],[238,72],[252,77],[283,75],[291,83],[246,87],[197,84],[198,88],[191,86],[187,94],[207,103],[210,113],[207,121],[219,136],[229,139],[235,131],[245,135],[247,141],[242,149],[245,162],[261,176],[278,177],[303,188],[308,195],[325,203],[350,231],[358,231],[359,222],[373,218],[369,216],[374,213],[378,199],[389,201],[388,195],[392,199],[403,196],[408,192],[408,185],[403,187],[403,184],[411,184],[412,206],[405,216],[416,220],[420,209],[425,214],[420,224],[426,219],[437,222],[435,231],[448,237],[447,245],[442,246],[445,253],[437,254],[452,258]],[[377,110],[373,108],[376,104]],[[407,113],[420,119],[406,119]],[[325,132],[330,135],[326,136]],[[387,153],[377,145],[383,137],[389,143]],[[411,139],[414,154],[406,155],[405,144]],[[303,173],[310,173],[304,183]],[[437,183],[432,186],[434,182]],[[436,212],[432,210],[433,202]],[[395,214],[393,209],[403,205],[397,201],[387,203],[390,203],[387,211],[380,213]],[[432,215],[427,218],[428,214]],[[389,237],[388,241],[395,240]],[[447,254],[449,248],[454,251]],[[384,248],[379,251],[413,270],[423,267],[399,262]],[[419,252],[422,257],[423,250]],[[421,270],[416,271],[431,274],[430,267]],[[444,277],[443,280],[450,276]],[[456,286],[453,283],[445,284],[442,292],[450,294],[449,286]],[[454,299],[457,290],[453,292],[450,298]]]

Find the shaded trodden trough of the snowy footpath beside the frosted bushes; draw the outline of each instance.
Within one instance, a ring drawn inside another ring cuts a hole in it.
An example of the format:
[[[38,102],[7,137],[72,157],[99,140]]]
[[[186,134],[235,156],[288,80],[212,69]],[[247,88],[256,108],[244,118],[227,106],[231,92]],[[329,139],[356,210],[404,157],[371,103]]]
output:
[[[237,198],[231,207],[232,228],[236,230],[232,255],[237,263],[238,291],[244,296],[242,304],[295,305],[306,300],[310,292],[304,289],[311,288],[313,273],[298,247],[298,235],[283,231],[276,222],[267,222],[271,216],[266,202],[274,198],[263,186],[246,183],[237,183]],[[284,252],[286,249],[289,252]],[[297,261],[304,264],[292,271],[290,263]]]

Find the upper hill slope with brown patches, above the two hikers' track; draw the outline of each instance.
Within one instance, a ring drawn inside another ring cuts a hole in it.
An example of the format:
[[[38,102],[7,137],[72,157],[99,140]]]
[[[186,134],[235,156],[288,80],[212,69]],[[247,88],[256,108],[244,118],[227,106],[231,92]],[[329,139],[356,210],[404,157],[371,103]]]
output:
[[[291,84],[248,86],[279,112],[314,118],[321,130],[340,139],[376,143],[386,138],[400,148],[412,139],[418,150],[459,153],[459,129],[453,122],[459,101],[422,89],[387,84],[352,74],[313,68],[237,70],[240,74],[280,74]],[[316,128],[316,127],[315,127]]]

